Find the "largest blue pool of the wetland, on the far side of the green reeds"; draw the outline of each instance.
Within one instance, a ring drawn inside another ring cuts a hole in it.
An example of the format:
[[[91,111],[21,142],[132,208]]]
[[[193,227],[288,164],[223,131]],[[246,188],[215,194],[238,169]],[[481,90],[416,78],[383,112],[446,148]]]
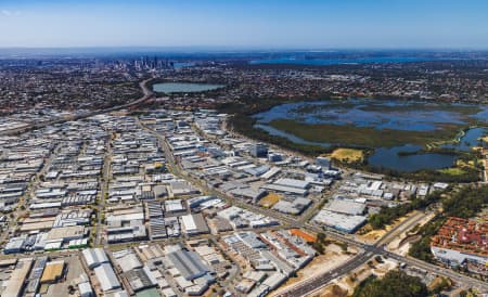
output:
[[[433,131],[444,124],[466,125],[465,115],[449,108],[478,107],[466,104],[438,104],[420,101],[349,99],[282,104],[256,114],[258,124],[293,119],[303,124],[355,125],[406,131]],[[488,106],[468,115],[488,124]]]

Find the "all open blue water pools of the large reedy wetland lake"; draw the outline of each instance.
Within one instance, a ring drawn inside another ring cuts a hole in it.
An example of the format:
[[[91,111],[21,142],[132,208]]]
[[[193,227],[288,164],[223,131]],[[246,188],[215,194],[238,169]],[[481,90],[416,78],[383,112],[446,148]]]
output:
[[[451,108],[471,108],[460,109]],[[479,109],[478,109],[479,108]],[[472,113],[467,113],[471,111]],[[298,102],[282,104],[254,115],[256,128],[264,129],[272,135],[286,138],[295,143],[328,147],[331,143],[313,142],[275,129],[268,124],[273,119],[292,119],[304,124],[355,125],[373,127],[377,130],[433,131],[445,124],[464,125],[466,117],[476,118],[488,124],[488,106],[467,104],[437,104],[415,101],[351,99],[345,101]],[[487,128],[467,130],[457,143],[444,144],[441,147],[457,151],[470,151],[478,144],[478,139],[488,132]],[[399,171],[418,171],[421,169],[440,169],[454,165],[457,156],[439,153],[419,153],[398,155],[399,152],[418,152],[420,145],[406,144],[395,147],[376,147],[369,157],[370,165]]]

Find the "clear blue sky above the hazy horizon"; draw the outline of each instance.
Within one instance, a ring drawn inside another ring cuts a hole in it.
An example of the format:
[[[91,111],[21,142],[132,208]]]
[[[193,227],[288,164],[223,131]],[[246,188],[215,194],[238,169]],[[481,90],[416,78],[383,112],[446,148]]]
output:
[[[0,0],[0,47],[488,49],[488,1]]]

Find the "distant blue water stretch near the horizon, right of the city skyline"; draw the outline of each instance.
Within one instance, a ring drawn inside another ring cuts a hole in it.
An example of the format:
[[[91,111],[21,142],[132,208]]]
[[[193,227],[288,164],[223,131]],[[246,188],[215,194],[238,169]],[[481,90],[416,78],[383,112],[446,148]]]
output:
[[[248,64],[295,64],[295,65],[341,65],[341,64],[369,64],[369,63],[409,63],[434,61],[435,57],[422,56],[377,56],[377,57],[357,57],[357,59],[295,59],[295,57],[278,57],[278,59],[260,59],[249,61]]]

